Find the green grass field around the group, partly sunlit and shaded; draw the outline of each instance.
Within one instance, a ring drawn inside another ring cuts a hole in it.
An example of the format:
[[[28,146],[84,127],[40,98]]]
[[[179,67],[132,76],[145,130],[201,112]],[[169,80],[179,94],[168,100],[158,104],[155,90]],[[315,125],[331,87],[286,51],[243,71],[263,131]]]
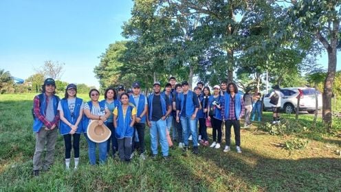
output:
[[[341,156],[336,152],[341,148],[340,119],[333,119],[333,134],[326,134],[320,119],[312,127],[311,115],[300,115],[298,122],[294,115],[283,115],[283,122],[300,130],[293,134],[273,136],[257,123],[243,129],[242,154],[236,153],[232,139],[228,153],[200,146],[199,155],[182,156],[180,149],[170,149],[168,161],[134,157],[129,165],[109,158],[104,165],[90,166],[82,136],[76,171],[65,170],[60,136],[54,166],[33,177],[33,97],[0,95],[0,191],[340,191]],[[271,121],[270,112],[264,116]],[[307,148],[285,149],[285,141],[294,138],[307,139]],[[148,133],[146,149],[150,154]]]

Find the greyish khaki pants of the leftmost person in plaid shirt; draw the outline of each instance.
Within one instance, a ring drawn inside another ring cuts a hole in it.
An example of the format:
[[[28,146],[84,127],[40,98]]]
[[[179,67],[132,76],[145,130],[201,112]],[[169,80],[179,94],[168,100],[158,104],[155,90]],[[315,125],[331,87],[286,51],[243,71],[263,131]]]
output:
[[[54,163],[54,148],[56,146],[58,128],[54,130],[45,130],[41,128],[36,132],[36,150],[33,156],[33,170],[49,169]],[[45,160],[43,160],[43,151],[46,144]]]

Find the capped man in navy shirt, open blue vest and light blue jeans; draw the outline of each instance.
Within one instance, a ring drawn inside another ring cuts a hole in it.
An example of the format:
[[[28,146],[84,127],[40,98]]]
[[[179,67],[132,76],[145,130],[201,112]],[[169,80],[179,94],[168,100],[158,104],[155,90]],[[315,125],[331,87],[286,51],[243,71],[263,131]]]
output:
[[[151,128],[152,157],[157,156],[157,135],[161,143],[162,156],[168,159],[168,142],[166,138],[166,119],[172,112],[170,100],[167,95],[161,95],[161,84],[154,82],[154,93],[148,97],[148,127]]]

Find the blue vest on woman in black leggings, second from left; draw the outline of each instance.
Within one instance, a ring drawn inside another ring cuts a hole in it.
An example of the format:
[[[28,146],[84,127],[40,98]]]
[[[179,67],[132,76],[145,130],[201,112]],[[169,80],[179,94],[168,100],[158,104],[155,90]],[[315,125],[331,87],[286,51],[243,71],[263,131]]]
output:
[[[80,112],[80,110],[83,110],[83,109],[80,109],[80,106],[82,106],[82,103],[83,103],[83,99],[76,97],[74,114],[72,115],[71,111],[69,110],[69,104],[67,103],[67,99],[61,99],[61,106],[63,108],[64,117],[65,117],[65,119],[67,119],[67,121],[72,123],[72,125],[76,124],[77,119],[79,117],[79,112]],[[78,133],[78,134],[83,132],[82,121],[83,121],[83,119],[78,124],[78,128],[76,130],[76,133]],[[69,125],[64,123],[64,121],[59,121],[59,131],[61,132],[62,135],[63,134],[69,134],[69,132],[71,131],[71,128],[69,127]]]

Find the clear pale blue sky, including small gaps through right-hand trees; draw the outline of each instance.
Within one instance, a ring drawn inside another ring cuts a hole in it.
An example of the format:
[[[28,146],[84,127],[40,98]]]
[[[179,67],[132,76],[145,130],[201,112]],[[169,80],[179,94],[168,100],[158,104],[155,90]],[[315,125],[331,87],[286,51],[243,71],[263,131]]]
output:
[[[131,0],[0,0],[0,69],[23,80],[47,60],[65,63],[62,81],[99,88],[94,67],[123,40]],[[338,52],[341,69],[341,53]],[[325,53],[318,63],[327,69]]]

